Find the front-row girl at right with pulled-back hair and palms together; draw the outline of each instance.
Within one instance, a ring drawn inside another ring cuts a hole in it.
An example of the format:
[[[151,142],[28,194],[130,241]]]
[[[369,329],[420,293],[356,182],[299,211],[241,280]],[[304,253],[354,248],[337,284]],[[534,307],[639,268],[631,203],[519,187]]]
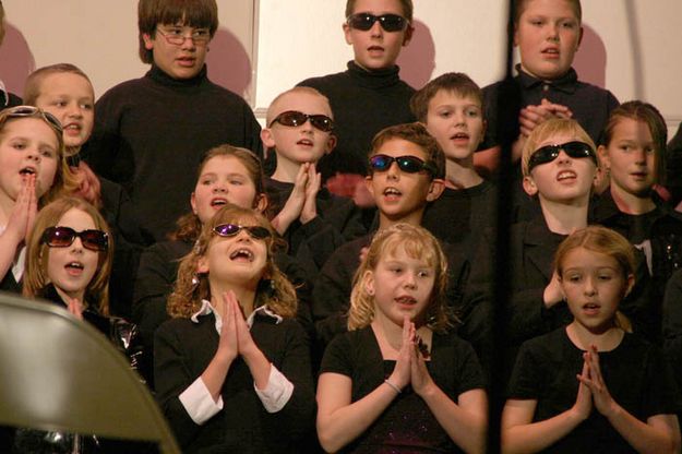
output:
[[[679,452],[682,402],[669,366],[618,312],[634,285],[632,246],[586,227],[561,243],[554,268],[574,319],[522,346],[503,452]]]

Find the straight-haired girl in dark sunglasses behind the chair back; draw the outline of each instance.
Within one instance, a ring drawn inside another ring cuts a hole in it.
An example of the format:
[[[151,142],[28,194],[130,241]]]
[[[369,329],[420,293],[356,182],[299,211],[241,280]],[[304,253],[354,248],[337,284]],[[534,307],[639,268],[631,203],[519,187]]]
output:
[[[57,199],[36,216],[28,238],[23,295],[62,306],[92,324],[127,355],[131,368],[136,369],[142,356],[136,327],[123,319],[109,316],[111,256],[109,228],[99,212],[82,199]],[[19,430],[14,445],[16,452],[35,452],[36,446],[40,446],[39,452],[65,453],[72,452],[75,445],[81,445],[85,452],[109,452],[107,450],[115,446],[132,452],[129,444],[59,432],[46,435],[35,430]]]

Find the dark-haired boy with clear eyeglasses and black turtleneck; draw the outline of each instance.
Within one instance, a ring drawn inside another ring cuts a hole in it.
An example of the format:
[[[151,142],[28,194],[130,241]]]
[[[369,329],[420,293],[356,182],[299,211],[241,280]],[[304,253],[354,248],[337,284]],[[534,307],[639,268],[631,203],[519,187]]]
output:
[[[204,153],[224,143],[260,152],[260,126],[241,97],[206,76],[215,0],[140,0],[137,13],[140,57],[152,69],[101,96],[82,154],[123,184],[141,227],[158,241],[188,211]]]

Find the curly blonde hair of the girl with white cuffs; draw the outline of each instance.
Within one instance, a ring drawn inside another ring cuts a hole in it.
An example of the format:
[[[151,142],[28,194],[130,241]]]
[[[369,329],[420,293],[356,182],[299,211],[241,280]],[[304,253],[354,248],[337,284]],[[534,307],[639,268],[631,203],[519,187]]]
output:
[[[253,223],[271,232],[266,239],[267,259],[255,295],[254,308],[267,304],[268,309],[284,318],[296,315],[296,290],[274,261],[275,251],[282,247],[270,222],[260,213],[227,204],[207,222],[199,235],[194,248],[180,262],[178,279],[168,299],[168,314],[174,318],[190,318],[202,306],[203,299],[211,299],[207,274],[198,274],[199,260],[203,258],[215,238],[214,227],[220,224]],[[210,273],[208,273],[210,274]]]

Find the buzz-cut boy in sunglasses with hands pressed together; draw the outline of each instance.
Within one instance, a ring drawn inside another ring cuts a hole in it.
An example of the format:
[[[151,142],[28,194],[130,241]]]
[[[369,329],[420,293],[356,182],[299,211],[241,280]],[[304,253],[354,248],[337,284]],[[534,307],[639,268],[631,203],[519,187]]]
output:
[[[321,188],[316,165],[334,150],[334,128],[328,99],[298,86],[272,101],[261,131],[263,145],[277,156],[274,174],[265,179],[268,211],[278,213],[272,224],[309,278],[336,248],[366,232],[352,201]]]

